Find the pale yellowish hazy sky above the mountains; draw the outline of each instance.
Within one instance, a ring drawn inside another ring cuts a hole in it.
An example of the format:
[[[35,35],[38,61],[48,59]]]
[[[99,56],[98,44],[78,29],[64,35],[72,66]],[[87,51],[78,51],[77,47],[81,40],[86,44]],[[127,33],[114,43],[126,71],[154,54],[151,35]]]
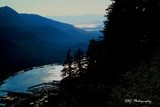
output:
[[[0,7],[9,6],[19,13],[43,16],[105,14],[110,0],[0,0]]]

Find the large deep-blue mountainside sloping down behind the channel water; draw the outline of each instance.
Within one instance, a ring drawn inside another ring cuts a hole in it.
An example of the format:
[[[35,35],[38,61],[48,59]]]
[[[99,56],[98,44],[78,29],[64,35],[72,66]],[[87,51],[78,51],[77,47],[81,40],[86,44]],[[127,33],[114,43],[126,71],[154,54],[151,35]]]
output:
[[[0,8],[0,72],[11,72],[49,63],[62,63],[68,49],[86,49],[100,32],[86,32],[73,25],[35,14]]]

